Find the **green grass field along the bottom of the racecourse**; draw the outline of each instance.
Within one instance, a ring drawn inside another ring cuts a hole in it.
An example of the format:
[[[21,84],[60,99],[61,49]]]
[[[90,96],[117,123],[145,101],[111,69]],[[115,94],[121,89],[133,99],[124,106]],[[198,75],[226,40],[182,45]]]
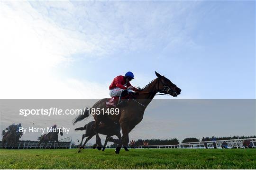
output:
[[[256,169],[256,149],[0,149],[0,169]]]

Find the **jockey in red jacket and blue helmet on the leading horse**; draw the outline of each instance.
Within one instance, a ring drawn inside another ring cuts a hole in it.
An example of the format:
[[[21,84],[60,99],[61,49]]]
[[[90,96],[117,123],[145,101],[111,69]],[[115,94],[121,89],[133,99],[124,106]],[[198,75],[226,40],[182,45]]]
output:
[[[121,98],[132,93],[133,86],[130,81],[134,79],[132,72],[127,72],[125,76],[117,76],[110,84],[110,97],[119,96],[118,105],[121,103]]]

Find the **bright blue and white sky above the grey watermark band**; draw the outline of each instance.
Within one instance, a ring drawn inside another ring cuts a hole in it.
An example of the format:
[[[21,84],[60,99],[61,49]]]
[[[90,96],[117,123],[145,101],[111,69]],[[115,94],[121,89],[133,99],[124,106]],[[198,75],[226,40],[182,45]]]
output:
[[[0,98],[105,98],[157,71],[177,99],[255,99],[255,3],[2,0]]]

